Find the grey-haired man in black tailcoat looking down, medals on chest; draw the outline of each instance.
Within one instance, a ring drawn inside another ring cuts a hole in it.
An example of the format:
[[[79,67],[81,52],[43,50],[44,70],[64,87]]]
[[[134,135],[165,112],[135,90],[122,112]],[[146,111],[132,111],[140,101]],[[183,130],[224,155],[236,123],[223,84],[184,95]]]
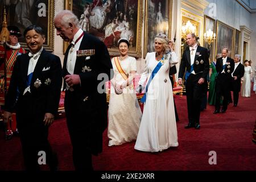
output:
[[[102,151],[102,133],[107,126],[106,93],[100,85],[113,77],[112,63],[105,44],[82,31],[72,11],[58,13],[54,24],[57,35],[70,43],[63,77],[73,163],[78,171],[91,171],[92,155]]]

